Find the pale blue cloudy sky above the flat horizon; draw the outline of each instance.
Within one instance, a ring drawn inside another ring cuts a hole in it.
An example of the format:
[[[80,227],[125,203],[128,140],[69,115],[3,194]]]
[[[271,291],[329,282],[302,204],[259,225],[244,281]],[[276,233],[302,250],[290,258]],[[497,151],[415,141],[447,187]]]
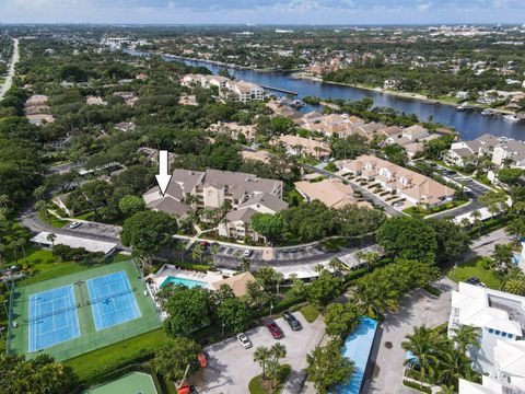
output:
[[[525,23],[525,0],[0,0],[2,23]]]

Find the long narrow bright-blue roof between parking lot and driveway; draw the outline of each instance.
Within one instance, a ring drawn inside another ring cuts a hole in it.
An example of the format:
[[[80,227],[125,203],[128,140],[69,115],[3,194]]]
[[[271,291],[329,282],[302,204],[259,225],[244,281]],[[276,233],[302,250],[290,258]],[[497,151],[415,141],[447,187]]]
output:
[[[353,361],[355,372],[350,381],[336,387],[334,391],[335,394],[360,393],[376,329],[376,321],[370,317],[361,317],[361,323],[358,328],[348,335],[345,346],[342,347],[342,356]]]

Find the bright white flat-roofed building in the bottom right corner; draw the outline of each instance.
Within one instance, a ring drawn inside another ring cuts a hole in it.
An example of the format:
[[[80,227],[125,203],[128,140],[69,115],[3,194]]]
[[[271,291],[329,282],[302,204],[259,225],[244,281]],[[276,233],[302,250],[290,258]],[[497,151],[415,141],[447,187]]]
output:
[[[468,355],[472,368],[501,384],[503,392],[525,391],[525,297],[460,282],[459,290],[452,292],[450,338],[460,325],[480,329],[479,349]],[[465,393],[476,393],[477,387],[467,389]]]

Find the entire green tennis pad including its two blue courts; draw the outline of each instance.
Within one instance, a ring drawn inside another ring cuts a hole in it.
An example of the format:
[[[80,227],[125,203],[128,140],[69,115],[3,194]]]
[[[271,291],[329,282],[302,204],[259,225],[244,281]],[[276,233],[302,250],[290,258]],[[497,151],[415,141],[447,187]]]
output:
[[[62,300],[65,296],[67,300]],[[38,312],[35,305],[40,303],[44,311]],[[75,333],[75,325],[69,324],[72,311],[80,328],[77,337],[70,335]],[[66,360],[161,326],[155,304],[132,260],[15,287],[11,313],[18,326],[11,326],[8,333],[8,351],[30,358],[46,352]],[[35,337],[39,339],[36,346]]]

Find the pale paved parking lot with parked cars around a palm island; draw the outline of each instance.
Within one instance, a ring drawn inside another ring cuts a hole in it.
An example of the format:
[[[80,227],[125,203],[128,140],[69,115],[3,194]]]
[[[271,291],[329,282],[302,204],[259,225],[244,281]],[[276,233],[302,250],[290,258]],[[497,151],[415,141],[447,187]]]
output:
[[[292,367],[284,392],[299,393],[305,376],[303,370],[306,368],[306,354],[320,341],[325,324],[320,317],[308,324],[300,312],[294,315],[303,325],[300,332],[292,332],[282,318],[276,320],[284,332],[282,339],[276,340],[266,327],[258,327],[247,333],[254,345],[250,349],[244,349],[235,337],[206,348],[210,356],[208,368],[194,376],[199,393],[246,394],[252,378],[261,373],[260,367],[254,362],[255,349],[259,346],[271,347],[273,344],[287,347],[287,357],[281,363]]]

